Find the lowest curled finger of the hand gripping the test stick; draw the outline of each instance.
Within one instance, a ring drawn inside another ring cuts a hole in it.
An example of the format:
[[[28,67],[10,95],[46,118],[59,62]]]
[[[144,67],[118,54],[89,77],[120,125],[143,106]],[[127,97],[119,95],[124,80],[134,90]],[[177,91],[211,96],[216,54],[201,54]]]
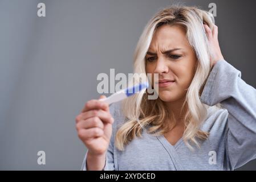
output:
[[[104,135],[104,131],[99,127],[92,127],[90,129],[81,129],[78,131],[78,137],[82,140],[101,137],[103,135]]]

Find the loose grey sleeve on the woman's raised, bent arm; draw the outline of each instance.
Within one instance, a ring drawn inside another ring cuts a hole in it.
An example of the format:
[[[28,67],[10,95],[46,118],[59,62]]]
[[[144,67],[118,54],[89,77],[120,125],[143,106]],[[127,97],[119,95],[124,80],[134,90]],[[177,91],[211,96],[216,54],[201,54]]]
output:
[[[241,72],[218,61],[201,95],[204,104],[221,103],[228,111],[226,151],[232,169],[256,158],[256,90],[241,79]]]

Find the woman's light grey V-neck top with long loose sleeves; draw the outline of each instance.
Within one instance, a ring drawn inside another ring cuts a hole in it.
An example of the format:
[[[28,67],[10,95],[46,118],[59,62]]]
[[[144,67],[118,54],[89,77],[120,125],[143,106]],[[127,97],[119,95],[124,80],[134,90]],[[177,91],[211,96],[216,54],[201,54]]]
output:
[[[163,136],[143,132],[124,151],[115,134],[125,122],[120,103],[110,107],[115,119],[104,170],[233,170],[256,158],[256,90],[225,60],[214,65],[200,100],[210,106],[201,130],[209,138],[191,151],[180,139],[174,146]],[[225,109],[214,105],[221,103]],[[87,155],[87,154],[86,154]],[[86,170],[86,156],[82,170]]]

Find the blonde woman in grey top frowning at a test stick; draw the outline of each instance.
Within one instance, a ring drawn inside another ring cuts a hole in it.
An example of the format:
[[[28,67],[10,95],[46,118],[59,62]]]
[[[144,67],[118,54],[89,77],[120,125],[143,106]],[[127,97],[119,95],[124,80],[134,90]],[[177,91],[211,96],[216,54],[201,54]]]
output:
[[[82,169],[233,170],[256,158],[256,90],[224,60],[217,36],[212,15],[196,7],[157,13],[134,69],[159,74],[159,97],[88,101],[76,117],[88,148]]]

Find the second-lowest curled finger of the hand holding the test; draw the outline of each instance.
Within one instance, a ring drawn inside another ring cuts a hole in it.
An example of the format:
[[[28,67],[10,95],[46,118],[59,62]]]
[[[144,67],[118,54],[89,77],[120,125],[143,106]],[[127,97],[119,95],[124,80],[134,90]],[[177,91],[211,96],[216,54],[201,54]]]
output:
[[[104,124],[98,117],[92,117],[83,122],[78,122],[76,125],[76,129],[90,129],[94,127],[99,127],[100,129],[104,129]]]

